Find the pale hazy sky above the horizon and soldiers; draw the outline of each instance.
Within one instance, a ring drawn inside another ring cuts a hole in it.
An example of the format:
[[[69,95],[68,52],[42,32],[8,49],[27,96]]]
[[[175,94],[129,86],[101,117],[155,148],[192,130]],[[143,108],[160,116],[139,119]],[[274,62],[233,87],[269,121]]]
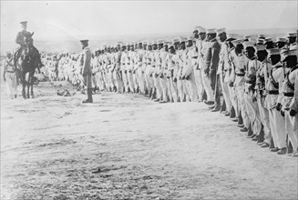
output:
[[[1,38],[20,21],[35,38],[143,35],[206,28],[297,27],[297,1],[1,1]]]

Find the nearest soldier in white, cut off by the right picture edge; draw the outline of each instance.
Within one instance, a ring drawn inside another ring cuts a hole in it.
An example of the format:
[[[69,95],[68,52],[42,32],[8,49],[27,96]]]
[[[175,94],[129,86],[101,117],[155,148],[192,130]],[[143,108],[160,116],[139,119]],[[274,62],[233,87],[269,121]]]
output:
[[[294,84],[295,80],[298,79],[297,76],[297,49],[293,50],[285,50],[282,52],[282,60],[283,64],[286,65],[288,68],[288,72],[285,75],[285,80],[283,82],[283,101],[282,101],[282,109],[281,111],[284,112],[284,119],[285,119],[285,130],[286,135],[288,135],[289,141],[291,142],[294,151],[296,152],[298,148],[298,138],[296,136],[298,126],[295,119],[295,110],[293,103],[293,96],[294,96]],[[290,106],[291,105],[291,106]],[[281,105],[279,105],[280,107]],[[296,132],[296,133],[294,133]],[[285,154],[286,149],[280,149],[277,154]]]

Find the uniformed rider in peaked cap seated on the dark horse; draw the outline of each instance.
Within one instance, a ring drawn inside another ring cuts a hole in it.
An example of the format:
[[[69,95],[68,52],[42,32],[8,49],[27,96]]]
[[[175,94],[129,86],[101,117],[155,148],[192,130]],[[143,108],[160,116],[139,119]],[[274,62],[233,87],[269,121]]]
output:
[[[26,48],[26,41],[25,41],[26,37],[31,37],[33,35],[30,32],[26,31],[27,21],[20,22],[20,24],[23,30],[18,32],[15,38],[15,43],[19,45],[19,47],[15,51],[15,56],[14,56],[15,67],[16,67],[16,62],[19,59],[20,55],[22,54],[23,49]],[[41,63],[40,54],[33,44],[32,44],[32,49],[31,51],[29,50],[28,54],[29,56],[36,56],[38,58],[39,67],[43,66],[43,64]]]

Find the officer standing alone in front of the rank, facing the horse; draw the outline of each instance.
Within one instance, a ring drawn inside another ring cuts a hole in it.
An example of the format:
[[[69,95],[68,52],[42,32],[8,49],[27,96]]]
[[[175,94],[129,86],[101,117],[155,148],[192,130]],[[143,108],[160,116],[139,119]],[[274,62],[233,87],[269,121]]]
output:
[[[81,56],[80,65],[82,66],[80,74],[84,77],[84,83],[87,87],[87,99],[83,101],[84,103],[93,103],[92,99],[92,70],[91,70],[91,51],[88,46],[88,40],[80,40],[83,54]]]

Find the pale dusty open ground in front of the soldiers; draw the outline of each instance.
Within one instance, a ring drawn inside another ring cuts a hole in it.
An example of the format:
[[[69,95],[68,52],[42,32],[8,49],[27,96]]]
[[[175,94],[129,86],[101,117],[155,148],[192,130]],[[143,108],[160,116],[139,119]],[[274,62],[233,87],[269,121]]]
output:
[[[62,88],[9,100],[2,85],[1,199],[297,199],[297,159],[206,105],[111,93],[82,105]]]

